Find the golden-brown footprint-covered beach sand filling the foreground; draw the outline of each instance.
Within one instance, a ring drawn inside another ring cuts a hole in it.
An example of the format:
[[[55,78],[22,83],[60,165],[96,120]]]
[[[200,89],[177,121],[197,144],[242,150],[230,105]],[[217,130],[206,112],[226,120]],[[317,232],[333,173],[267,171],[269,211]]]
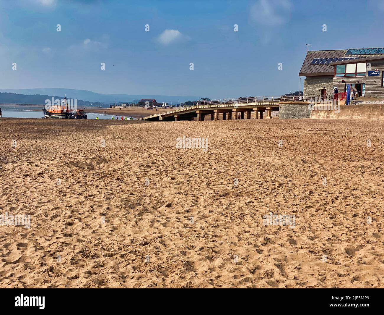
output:
[[[176,148],[183,135],[207,152]],[[383,135],[367,120],[2,118],[0,214],[31,227],[0,226],[0,287],[383,288]]]

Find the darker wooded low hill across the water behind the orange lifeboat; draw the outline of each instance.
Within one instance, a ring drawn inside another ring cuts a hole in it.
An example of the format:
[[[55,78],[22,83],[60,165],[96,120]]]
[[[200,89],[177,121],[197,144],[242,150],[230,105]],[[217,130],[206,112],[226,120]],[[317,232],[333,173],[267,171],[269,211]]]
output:
[[[48,95],[40,95],[40,94],[30,94],[30,95],[23,95],[23,94],[15,94],[15,93],[0,93],[0,103],[1,104],[37,104],[37,105],[45,105],[45,100],[51,100],[52,97],[56,99],[63,99],[63,96],[48,96]],[[71,99],[71,97],[68,96],[68,99]],[[77,100],[78,106],[101,106],[104,105],[104,103],[100,102],[89,102],[89,101],[83,101],[83,100]]]

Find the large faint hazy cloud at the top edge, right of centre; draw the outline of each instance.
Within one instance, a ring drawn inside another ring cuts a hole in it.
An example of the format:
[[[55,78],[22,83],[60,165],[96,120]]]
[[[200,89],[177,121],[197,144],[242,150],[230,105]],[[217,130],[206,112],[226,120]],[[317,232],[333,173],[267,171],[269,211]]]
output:
[[[290,0],[258,0],[250,9],[250,18],[262,25],[281,25],[288,22],[292,8]]]

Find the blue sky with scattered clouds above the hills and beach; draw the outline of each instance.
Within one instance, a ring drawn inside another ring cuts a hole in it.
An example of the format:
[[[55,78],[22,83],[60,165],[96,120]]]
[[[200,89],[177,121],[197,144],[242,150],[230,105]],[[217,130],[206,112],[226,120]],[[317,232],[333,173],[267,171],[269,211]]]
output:
[[[299,88],[305,43],[311,50],[384,47],[383,15],[378,0],[4,0],[0,88],[280,95]]]

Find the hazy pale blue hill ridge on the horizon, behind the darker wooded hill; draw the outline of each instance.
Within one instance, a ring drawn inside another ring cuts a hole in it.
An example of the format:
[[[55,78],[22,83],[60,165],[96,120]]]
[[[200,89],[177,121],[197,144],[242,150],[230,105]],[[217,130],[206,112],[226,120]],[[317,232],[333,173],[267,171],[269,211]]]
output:
[[[71,88],[25,88],[18,90],[0,89],[0,92],[17,93],[24,95],[66,95],[68,98],[78,100],[87,100],[89,102],[100,103],[119,103],[133,102],[142,98],[154,98],[157,102],[167,102],[169,104],[178,104],[179,102],[199,100],[202,96],[168,96],[168,95],[144,95],[144,94],[101,94],[86,90],[74,90]],[[21,103],[21,102],[19,102]]]

